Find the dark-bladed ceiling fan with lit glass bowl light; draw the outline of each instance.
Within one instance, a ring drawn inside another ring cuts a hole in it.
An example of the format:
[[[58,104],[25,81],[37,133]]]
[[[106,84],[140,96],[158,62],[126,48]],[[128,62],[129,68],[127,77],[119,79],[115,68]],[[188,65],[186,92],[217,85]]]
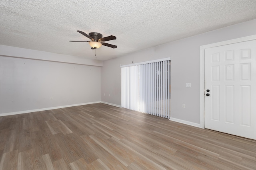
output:
[[[83,31],[78,30],[77,32],[81,33],[82,35],[86,36],[87,38],[91,39],[92,41],[70,41],[70,42],[88,42],[90,44],[90,46],[92,47],[91,49],[98,49],[101,47],[101,45],[111,47],[113,49],[115,49],[117,47],[116,45],[102,42],[102,41],[109,41],[109,40],[116,39],[116,37],[113,35],[102,38],[102,34],[96,33],[96,32],[89,33],[89,35],[87,35]]]

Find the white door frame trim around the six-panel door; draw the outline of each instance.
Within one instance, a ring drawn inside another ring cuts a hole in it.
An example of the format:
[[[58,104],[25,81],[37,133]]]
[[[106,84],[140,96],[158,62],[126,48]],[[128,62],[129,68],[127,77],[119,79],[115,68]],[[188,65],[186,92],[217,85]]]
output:
[[[200,46],[200,127],[204,128],[204,50],[208,49],[208,48],[212,48],[212,47],[218,47],[218,46],[222,46],[222,45],[228,45],[228,44],[234,44],[234,43],[240,43],[240,42],[244,42],[244,41],[252,41],[252,40],[256,40],[256,35],[251,35],[248,37],[241,37],[241,38],[237,38],[237,39],[231,39],[231,40],[227,40],[227,41],[222,41],[222,42],[218,42],[218,43],[212,43],[212,44],[208,44],[208,45],[201,45]]]

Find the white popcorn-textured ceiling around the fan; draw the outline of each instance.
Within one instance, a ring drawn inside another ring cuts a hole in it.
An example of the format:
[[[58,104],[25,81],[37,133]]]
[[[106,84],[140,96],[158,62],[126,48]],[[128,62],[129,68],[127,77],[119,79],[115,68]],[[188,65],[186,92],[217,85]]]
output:
[[[0,44],[95,59],[77,30],[98,32],[97,59],[256,19],[256,0],[1,0]]]

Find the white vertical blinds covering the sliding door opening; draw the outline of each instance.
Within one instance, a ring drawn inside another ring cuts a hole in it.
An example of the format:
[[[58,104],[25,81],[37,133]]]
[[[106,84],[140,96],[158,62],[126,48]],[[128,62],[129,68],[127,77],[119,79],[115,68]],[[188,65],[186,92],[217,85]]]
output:
[[[122,67],[122,107],[170,118],[170,60]]]

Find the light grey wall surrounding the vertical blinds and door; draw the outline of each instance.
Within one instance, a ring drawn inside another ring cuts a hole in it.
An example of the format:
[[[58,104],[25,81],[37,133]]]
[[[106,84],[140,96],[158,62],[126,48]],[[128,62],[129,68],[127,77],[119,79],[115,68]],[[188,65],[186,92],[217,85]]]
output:
[[[171,57],[171,117],[200,124],[200,46],[256,34],[256,20],[188,37],[129,55],[104,61],[101,99],[121,105],[120,64]],[[168,31],[168,30],[166,30]],[[186,88],[186,82],[191,88]],[[110,96],[105,95],[110,94]],[[182,108],[186,104],[186,108]]]

